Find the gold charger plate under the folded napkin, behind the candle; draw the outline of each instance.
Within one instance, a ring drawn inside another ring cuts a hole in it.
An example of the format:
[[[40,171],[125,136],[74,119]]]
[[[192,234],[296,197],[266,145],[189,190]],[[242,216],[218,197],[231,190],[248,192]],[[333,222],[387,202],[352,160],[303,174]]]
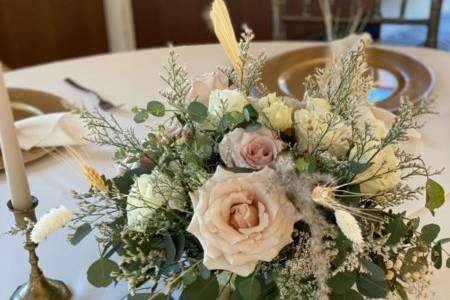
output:
[[[8,88],[8,94],[13,106],[14,119],[21,120],[39,114],[48,114],[65,111],[62,99],[50,93],[23,89]],[[33,148],[29,151],[22,151],[25,163],[35,161],[49,153],[48,149]],[[0,151],[0,170],[3,170],[3,159]]]

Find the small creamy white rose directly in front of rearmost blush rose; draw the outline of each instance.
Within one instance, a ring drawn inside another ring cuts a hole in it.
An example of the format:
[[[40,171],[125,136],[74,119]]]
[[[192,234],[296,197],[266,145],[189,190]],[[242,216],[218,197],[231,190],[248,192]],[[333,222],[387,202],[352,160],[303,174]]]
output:
[[[216,116],[222,112],[242,112],[248,103],[245,96],[237,90],[214,90],[209,97],[208,111]]]

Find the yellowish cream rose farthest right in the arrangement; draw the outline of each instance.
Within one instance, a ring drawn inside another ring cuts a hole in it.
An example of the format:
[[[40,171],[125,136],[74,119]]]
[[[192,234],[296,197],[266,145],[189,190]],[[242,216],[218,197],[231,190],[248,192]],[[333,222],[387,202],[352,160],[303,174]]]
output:
[[[367,151],[358,161],[367,163],[375,151],[375,149]],[[354,159],[355,156],[356,149],[352,149],[349,158]],[[399,161],[392,145],[383,148],[370,163],[371,165],[366,171],[355,177],[355,181],[362,182],[360,184],[361,193],[375,195],[378,192],[390,190],[400,183],[401,174],[397,170]],[[374,178],[370,179],[372,177]]]

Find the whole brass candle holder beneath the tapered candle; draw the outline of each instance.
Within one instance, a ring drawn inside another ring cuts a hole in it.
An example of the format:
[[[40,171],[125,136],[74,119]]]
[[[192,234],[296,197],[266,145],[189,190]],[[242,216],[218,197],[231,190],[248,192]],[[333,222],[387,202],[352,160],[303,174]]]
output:
[[[36,221],[35,208],[38,205],[38,199],[33,197],[32,201],[33,207],[25,211],[14,209],[11,201],[8,201],[7,204],[9,210],[14,213],[16,225],[26,233],[24,248],[28,251],[28,261],[31,266],[28,282],[19,286],[10,297],[10,300],[69,300],[72,298],[72,292],[64,282],[46,278],[39,268],[39,258],[36,255],[38,244],[31,240],[31,232],[27,229],[27,219],[33,222]]]

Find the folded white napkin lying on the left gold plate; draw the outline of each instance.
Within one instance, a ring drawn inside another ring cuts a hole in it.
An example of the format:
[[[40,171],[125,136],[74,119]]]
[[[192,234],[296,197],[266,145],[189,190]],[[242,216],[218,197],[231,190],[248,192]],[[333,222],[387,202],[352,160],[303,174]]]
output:
[[[75,146],[87,135],[82,121],[71,113],[52,113],[15,123],[20,148]]]

